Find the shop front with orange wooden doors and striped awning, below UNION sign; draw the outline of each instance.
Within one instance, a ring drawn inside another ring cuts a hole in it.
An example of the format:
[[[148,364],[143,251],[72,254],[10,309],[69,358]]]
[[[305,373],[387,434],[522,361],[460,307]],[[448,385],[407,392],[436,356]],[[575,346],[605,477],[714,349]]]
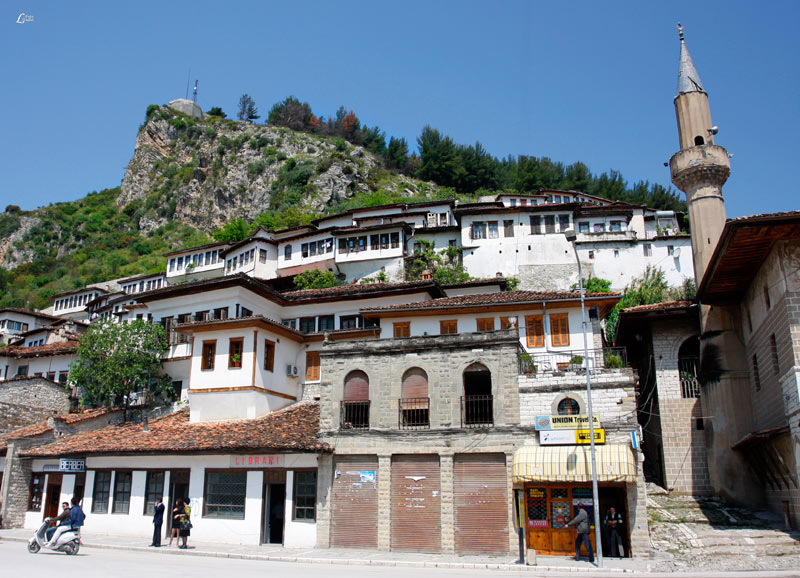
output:
[[[631,555],[630,497],[635,496],[636,456],[628,446],[596,446],[598,498],[601,523],[609,508],[621,514],[619,530],[624,555]],[[525,446],[514,454],[514,487],[524,493],[526,548],[544,555],[574,555],[575,529],[567,522],[578,513],[582,503],[589,519],[594,520],[590,448],[583,446]],[[595,543],[594,524],[589,539]],[[605,542],[605,537],[603,538]],[[604,552],[607,552],[604,543]],[[620,553],[607,555],[619,556]]]

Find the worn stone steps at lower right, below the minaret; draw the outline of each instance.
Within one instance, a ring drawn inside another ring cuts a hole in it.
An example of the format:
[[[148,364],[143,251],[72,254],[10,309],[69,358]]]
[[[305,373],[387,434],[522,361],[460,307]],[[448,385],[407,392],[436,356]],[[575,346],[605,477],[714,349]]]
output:
[[[800,532],[772,512],[718,498],[669,495],[647,485],[652,570],[793,570],[800,568]]]

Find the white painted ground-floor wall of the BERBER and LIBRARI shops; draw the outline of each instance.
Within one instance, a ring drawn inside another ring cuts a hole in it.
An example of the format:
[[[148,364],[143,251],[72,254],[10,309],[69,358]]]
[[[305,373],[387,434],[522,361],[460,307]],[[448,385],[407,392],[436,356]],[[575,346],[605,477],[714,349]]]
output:
[[[315,454],[280,454],[280,468],[287,469],[286,475],[286,510],[284,526],[284,546],[287,548],[311,548],[316,545],[316,523],[295,522],[292,520],[293,481],[292,469],[308,469],[317,467]],[[41,471],[45,463],[53,464],[53,460],[34,460],[33,471]],[[257,545],[261,536],[262,515],[262,483],[263,469],[251,469],[247,472],[247,489],[245,496],[245,517],[243,520],[207,518],[203,516],[203,496],[206,469],[229,469],[230,455],[202,456],[103,456],[86,459],[86,489],[83,510],[86,514],[84,535],[116,534],[132,536],[142,543],[149,541],[153,533],[152,516],[144,514],[145,484],[147,470],[167,470],[189,468],[189,502],[192,508],[192,528],[189,543],[193,539],[232,544]],[[274,466],[272,466],[274,467]],[[111,480],[111,497],[109,513],[92,513],[92,493],[94,489],[94,472],[97,469],[132,470],[131,500],[128,514],[111,514],[113,509],[114,474]],[[70,479],[70,481],[67,481]],[[64,476],[62,481],[61,501],[69,501],[74,489],[74,475]],[[46,483],[46,481],[45,481]],[[68,484],[72,488],[67,488]],[[165,491],[169,487],[165,479]],[[67,495],[68,494],[68,495]],[[167,496],[164,496],[167,499]],[[44,504],[44,500],[42,504]],[[25,528],[36,529],[42,523],[42,512],[28,512]]]

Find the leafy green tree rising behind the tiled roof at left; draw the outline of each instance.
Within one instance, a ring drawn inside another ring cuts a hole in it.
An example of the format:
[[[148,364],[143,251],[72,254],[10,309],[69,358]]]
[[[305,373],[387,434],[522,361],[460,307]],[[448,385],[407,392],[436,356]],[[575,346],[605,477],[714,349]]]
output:
[[[141,319],[92,324],[78,341],[71,387],[81,392],[83,405],[123,407],[127,420],[133,393],[142,392],[149,401],[174,397],[171,380],[161,371],[167,349],[161,325]]]

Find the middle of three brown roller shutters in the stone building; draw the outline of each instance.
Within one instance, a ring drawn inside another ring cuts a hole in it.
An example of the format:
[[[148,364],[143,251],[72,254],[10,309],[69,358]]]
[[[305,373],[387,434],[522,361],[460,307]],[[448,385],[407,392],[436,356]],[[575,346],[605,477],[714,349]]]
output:
[[[392,456],[392,550],[439,552],[439,456]]]

